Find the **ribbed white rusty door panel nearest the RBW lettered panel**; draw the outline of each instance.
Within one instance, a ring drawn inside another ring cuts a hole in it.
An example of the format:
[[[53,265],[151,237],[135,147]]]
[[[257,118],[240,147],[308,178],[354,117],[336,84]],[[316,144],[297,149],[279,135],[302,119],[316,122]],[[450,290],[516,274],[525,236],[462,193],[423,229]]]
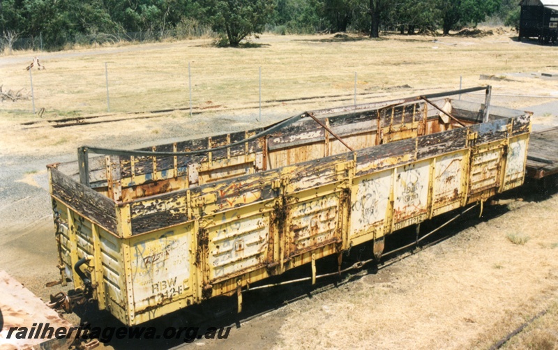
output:
[[[208,220],[216,225],[207,227],[209,238],[209,280],[211,283],[232,277],[267,264],[270,215],[258,213],[237,218],[238,211],[227,211]]]

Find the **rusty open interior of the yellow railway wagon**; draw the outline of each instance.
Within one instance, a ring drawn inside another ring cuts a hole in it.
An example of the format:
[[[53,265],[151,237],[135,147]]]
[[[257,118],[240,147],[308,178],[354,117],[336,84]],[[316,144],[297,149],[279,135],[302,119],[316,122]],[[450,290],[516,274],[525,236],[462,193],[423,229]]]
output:
[[[483,108],[478,103],[445,98],[400,105],[378,103],[359,105],[355,109],[306,112],[294,117],[299,119],[295,123],[248,142],[243,140],[266,133],[273,125],[137,150],[153,152],[153,155],[91,157],[86,183],[114,201],[133,201],[482,123]],[[310,114],[323,125],[310,118]],[[518,111],[513,109],[490,109],[490,120],[518,115]],[[232,146],[227,146],[229,144]],[[156,154],[200,150],[206,152],[174,156]],[[77,162],[61,164],[58,169],[80,181]]]

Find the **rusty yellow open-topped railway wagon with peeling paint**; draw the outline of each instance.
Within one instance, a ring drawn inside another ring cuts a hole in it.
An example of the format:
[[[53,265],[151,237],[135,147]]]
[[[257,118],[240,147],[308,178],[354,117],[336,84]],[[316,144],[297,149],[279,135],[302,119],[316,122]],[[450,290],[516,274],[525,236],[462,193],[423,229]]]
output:
[[[458,92],[482,90],[84,146],[48,166],[62,281],[136,325],[367,241],[379,257],[391,232],[522,184],[530,114]]]

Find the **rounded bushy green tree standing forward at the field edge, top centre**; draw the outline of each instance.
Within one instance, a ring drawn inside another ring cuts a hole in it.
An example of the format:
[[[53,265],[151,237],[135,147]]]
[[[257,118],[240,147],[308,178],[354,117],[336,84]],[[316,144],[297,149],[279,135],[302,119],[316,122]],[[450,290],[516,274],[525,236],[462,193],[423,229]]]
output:
[[[206,15],[214,31],[237,47],[252,33],[262,33],[273,14],[273,1],[206,0]]]

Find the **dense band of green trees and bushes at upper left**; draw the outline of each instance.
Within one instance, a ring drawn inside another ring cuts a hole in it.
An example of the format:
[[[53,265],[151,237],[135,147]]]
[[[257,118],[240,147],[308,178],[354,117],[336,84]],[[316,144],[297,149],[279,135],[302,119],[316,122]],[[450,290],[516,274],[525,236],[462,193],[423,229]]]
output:
[[[42,36],[47,50],[68,42],[106,40],[121,31],[151,31],[160,37],[184,20],[203,18],[201,4],[197,0],[0,0],[0,36],[6,31],[20,37]]]

